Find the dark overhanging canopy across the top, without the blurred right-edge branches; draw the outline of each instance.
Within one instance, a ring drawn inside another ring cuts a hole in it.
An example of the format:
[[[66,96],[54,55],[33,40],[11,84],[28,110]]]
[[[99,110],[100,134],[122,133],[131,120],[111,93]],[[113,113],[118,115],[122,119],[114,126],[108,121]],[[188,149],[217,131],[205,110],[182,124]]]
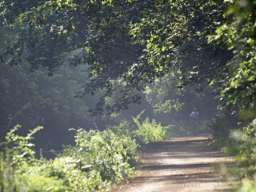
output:
[[[205,78],[216,76],[228,58],[212,58],[214,48],[205,40],[223,20],[222,1],[68,0],[20,6],[8,0],[2,6],[6,26],[17,30],[2,61],[17,65],[22,58],[32,70],[42,66],[51,74],[65,54],[79,50],[70,63],[88,63],[91,77],[79,96],[106,89],[95,114],[104,109],[105,98],[113,96],[113,79],[122,78],[124,86],[115,102],[106,106],[109,113],[138,102],[134,90],[141,92],[168,70],[179,68],[181,84],[199,78],[200,86]]]

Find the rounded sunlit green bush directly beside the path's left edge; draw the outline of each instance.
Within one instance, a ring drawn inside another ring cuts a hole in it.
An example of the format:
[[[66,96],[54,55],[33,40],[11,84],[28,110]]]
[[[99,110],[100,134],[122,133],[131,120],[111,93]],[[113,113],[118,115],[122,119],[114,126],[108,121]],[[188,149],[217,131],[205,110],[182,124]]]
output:
[[[129,136],[118,136],[113,131],[78,129],[75,136],[77,150],[72,156],[81,158],[82,167],[97,170],[102,180],[119,182],[132,173],[129,162],[135,161],[136,143]]]

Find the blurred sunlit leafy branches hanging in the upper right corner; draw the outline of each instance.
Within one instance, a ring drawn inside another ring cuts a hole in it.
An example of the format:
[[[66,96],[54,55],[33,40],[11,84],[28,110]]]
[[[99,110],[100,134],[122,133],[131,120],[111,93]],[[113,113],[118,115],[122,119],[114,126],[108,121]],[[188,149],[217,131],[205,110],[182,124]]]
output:
[[[228,103],[238,104],[240,109],[255,111],[255,40],[256,1],[236,1],[225,15],[230,22],[223,22],[210,41],[225,42],[227,49],[234,53],[227,63],[229,72],[225,74],[223,95]],[[255,117],[255,114],[253,115]]]

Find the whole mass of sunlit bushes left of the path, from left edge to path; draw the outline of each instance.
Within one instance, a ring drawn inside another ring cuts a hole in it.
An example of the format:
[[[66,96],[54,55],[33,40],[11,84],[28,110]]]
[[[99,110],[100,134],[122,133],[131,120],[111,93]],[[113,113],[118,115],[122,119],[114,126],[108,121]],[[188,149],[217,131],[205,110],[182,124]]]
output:
[[[29,143],[42,127],[28,136],[6,136],[0,154],[0,191],[95,191],[129,177],[134,168],[136,143],[113,131],[76,131],[76,146],[66,147],[55,159],[35,159]]]

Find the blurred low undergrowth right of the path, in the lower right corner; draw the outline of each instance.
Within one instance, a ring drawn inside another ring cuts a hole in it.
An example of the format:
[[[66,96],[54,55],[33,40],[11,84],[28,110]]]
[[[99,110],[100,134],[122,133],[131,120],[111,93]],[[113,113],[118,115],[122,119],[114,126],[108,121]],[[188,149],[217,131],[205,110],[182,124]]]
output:
[[[239,180],[236,191],[256,191],[256,119],[242,124],[235,115],[225,114],[216,118],[211,129],[213,145],[236,156],[236,164],[229,168]]]

